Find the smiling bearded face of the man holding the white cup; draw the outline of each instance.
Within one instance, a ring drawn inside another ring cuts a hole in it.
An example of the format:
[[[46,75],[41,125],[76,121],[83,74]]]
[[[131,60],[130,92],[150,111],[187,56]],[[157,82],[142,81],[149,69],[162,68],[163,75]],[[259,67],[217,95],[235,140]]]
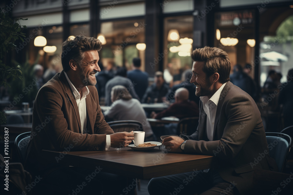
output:
[[[79,77],[84,86],[87,85],[96,85],[96,72],[100,72],[101,69],[98,65],[99,54],[96,50],[85,51],[84,60],[81,61],[79,68]]]

